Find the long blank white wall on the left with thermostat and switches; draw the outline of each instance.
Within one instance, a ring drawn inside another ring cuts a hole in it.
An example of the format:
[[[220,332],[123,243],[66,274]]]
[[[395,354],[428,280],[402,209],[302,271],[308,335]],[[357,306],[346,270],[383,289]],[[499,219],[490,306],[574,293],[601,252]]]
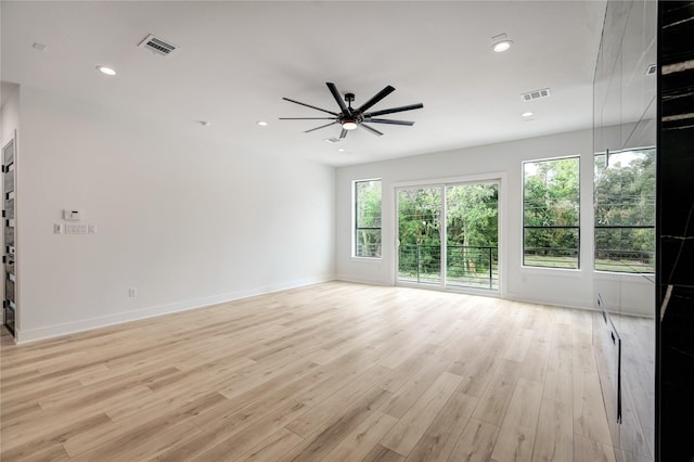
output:
[[[21,120],[20,341],[334,275],[331,167],[26,87]],[[54,234],[65,208],[97,234]]]

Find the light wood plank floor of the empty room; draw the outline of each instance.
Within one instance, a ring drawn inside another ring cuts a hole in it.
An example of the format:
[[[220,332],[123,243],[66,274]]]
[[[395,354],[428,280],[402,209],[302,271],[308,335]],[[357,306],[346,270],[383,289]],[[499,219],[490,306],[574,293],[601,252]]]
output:
[[[10,461],[612,461],[591,313],[325,283],[2,338]]]

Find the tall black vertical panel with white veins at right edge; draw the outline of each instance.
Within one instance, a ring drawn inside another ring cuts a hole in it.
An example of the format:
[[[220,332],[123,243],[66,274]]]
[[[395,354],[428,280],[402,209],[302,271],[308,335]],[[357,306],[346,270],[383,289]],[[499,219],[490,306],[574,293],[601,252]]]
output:
[[[694,461],[694,2],[658,2],[658,460]]]

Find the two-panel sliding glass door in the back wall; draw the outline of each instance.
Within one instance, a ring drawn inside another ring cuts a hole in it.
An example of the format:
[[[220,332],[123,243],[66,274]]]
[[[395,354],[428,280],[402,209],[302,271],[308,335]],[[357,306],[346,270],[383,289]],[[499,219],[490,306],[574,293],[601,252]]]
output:
[[[398,283],[499,288],[499,184],[397,190]]]

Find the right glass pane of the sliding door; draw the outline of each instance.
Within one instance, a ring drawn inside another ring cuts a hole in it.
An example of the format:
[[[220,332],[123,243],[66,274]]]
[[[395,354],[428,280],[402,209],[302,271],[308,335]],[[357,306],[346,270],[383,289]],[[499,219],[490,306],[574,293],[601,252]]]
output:
[[[499,288],[498,203],[497,183],[447,188],[447,285]]]

